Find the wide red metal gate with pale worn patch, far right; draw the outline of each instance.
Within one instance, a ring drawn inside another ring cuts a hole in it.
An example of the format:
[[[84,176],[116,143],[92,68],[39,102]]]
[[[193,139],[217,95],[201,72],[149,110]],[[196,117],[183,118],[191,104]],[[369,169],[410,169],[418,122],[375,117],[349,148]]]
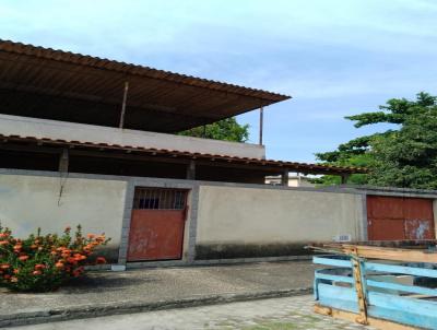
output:
[[[435,239],[433,200],[367,197],[369,240]]]

